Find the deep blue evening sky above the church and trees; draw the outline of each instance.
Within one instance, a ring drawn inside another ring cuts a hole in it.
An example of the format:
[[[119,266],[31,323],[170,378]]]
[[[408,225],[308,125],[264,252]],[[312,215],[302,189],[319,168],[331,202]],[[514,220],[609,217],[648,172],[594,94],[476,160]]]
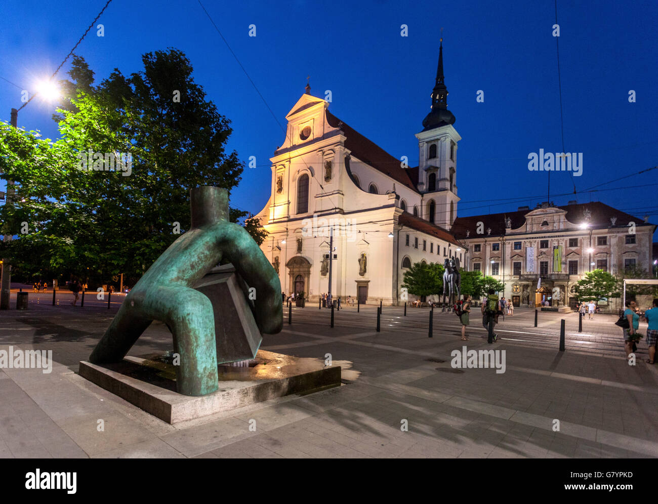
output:
[[[330,110],[395,157],[418,164],[413,136],[430,110],[440,28],[443,27],[448,107],[461,134],[457,159],[459,215],[534,207],[546,199],[545,172],[528,170],[528,153],[561,152],[555,5],[548,1],[499,2],[290,2],[203,0],[224,38],[281,124],[311,76],[311,93],[332,91]],[[0,7],[0,77],[33,89],[57,68],[103,0],[70,0],[54,9],[46,1],[5,1]],[[583,175],[551,174],[558,205],[603,201],[658,223],[658,7],[613,0],[558,1],[565,151],[582,152]],[[196,0],[113,0],[76,53],[97,81],[114,67],[141,70],[141,55],[176,47],[188,55],[194,78],[232,120],[229,149],[245,168],[232,205],[257,213],[270,193],[269,157],[283,143],[261,97]],[[255,24],[257,36],[249,37]],[[401,37],[401,24],[409,36]],[[69,64],[60,71],[67,77]],[[484,103],[476,103],[476,91]],[[636,103],[628,91],[636,91]],[[0,80],[0,116],[18,108],[20,89]],[[57,136],[52,107],[35,99],[18,126]],[[628,176],[616,189],[580,192]],[[518,197],[523,201],[509,201]],[[507,199],[503,205],[497,201]],[[485,201],[480,200],[497,200]],[[490,205],[490,206],[489,206]],[[654,240],[655,241],[655,240]]]

